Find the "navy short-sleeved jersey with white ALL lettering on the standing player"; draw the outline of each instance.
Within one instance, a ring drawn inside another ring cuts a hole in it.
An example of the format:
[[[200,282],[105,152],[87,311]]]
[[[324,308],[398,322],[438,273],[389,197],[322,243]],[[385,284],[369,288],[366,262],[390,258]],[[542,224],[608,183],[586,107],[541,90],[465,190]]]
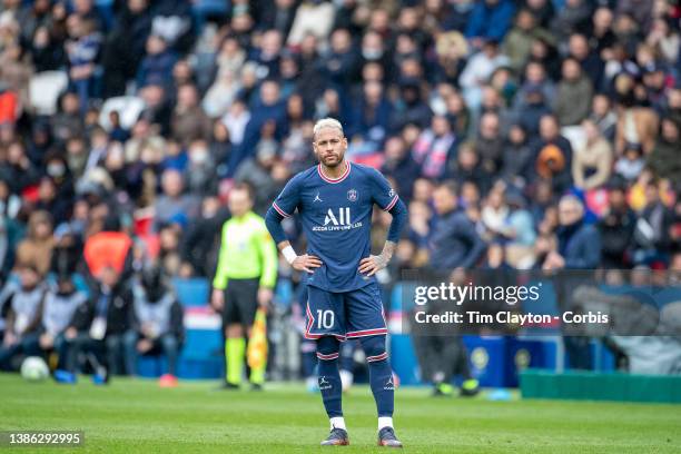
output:
[[[359,260],[371,251],[374,204],[389,211],[398,197],[377,170],[347,162],[337,179],[322,174],[322,166],[299,172],[288,181],[273,208],[284,217],[297,209],[307,237],[307,254],[322,267],[307,284],[328,292],[364,287],[375,277],[359,274]]]

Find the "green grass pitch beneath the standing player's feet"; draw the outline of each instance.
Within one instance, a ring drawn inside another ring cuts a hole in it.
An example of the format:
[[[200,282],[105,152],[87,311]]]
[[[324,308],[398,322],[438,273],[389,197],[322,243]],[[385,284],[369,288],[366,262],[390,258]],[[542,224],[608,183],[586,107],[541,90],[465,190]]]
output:
[[[385,452],[375,447],[368,387],[344,398],[352,445],[322,448],[328,423],[317,394],[288,384],[263,393],[215,386],[161,389],[155,381],[125,378],[95,386],[87,377],[75,386],[33,384],[0,374],[0,430],[85,431],[83,447],[60,453]],[[433,398],[426,388],[399,388],[396,408],[405,453],[681,452],[679,405]]]

